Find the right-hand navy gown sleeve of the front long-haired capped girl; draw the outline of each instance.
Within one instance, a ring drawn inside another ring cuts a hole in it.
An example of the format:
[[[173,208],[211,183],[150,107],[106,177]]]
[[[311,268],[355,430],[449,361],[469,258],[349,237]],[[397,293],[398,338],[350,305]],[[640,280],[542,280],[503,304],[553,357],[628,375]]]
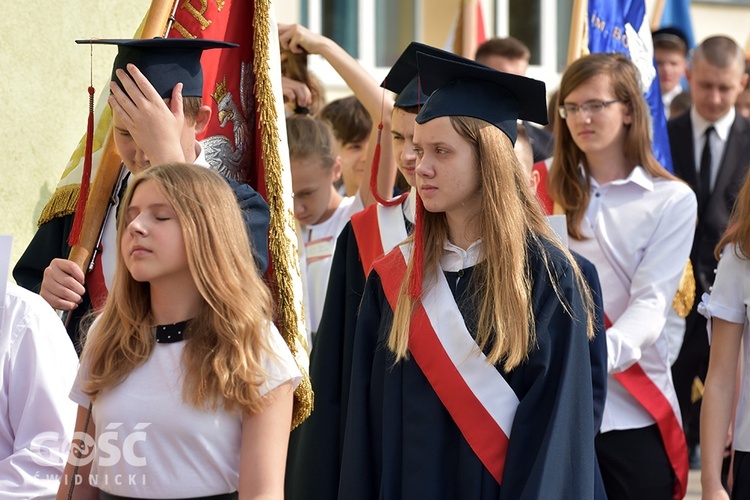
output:
[[[538,347],[522,368],[500,498],[593,498],[594,412],[586,312],[570,263],[547,248],[558,277],[532,267]],[[515,378],[511,374],[511,381]],[[512,382],[512,385],[513,384]]]

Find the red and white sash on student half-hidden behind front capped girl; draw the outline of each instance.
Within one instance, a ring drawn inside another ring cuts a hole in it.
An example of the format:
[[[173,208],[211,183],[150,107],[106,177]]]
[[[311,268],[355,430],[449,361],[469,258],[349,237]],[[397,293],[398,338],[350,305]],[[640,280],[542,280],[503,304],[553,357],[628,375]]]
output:
[[[375,259],[396,248],[408,236],[404,225],[403,203],[409,193],[401,195],[401,203],[392,207],[370,205],[352,215],[352,229],[357,239],[359,258],[365,276],[370,273]]]

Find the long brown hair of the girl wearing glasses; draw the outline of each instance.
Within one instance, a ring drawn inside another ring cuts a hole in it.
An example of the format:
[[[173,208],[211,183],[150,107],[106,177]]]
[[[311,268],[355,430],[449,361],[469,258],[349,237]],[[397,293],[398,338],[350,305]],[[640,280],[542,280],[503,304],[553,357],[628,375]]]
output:
[[[568,66],[560,82],[558,106],[573,90],[599,75],[609,79],[615,98],[630,110],[632,121],[623,125],[626,127],[623,153],[631,169],[641,165],[653,177],[676,179],[659,164],[651,150],[650,114],[641,92],[638,69],[624,55],[591,54]],[[570,236],[580,240],[583,239],[581,221],[591,193],[591,171],[586,155],[570,134],[566,120],[555,120],[555,135],[555,154],[547,177],[547,192],[565,210]]]

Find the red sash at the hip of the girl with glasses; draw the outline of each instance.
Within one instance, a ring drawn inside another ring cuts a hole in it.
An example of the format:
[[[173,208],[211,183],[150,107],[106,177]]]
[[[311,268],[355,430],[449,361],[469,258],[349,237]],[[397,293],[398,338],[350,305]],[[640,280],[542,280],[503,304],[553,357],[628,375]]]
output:
[[[612,321],[606,314],[604,326],[607,329],[612,326]],[[615,373],[614,377],[656,420],[661,440],[675,474],[672,497],[675,500],[685,498],[689,470],[687,443],[675,408],[638,363],[623,372]]]

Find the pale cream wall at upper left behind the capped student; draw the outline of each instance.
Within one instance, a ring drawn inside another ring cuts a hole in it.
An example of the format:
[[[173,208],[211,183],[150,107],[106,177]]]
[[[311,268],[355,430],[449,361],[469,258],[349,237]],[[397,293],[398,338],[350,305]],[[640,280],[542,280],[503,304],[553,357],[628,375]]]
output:
[[[0,51],[0,234],[13,235],[11,266],[86,131],[89,75],[97,97],[116,54],[79,38],[131,38],[150,0],[26,0],[4,6]],[[2,277],[0,277],[2,279]],[[10,278],[12,279],[12,278]]]

